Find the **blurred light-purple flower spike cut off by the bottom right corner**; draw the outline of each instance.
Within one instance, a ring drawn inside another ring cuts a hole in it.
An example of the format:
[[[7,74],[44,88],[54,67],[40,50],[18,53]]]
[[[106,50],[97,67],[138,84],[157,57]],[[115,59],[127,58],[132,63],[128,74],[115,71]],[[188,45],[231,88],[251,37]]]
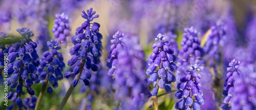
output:
[[[239,65],[241,76],[236,77],[232,99],[230,101],[231,109],[255,109],[256,88],[255,88],[255,64]],[[242,77],[243,76],[243,77]]]

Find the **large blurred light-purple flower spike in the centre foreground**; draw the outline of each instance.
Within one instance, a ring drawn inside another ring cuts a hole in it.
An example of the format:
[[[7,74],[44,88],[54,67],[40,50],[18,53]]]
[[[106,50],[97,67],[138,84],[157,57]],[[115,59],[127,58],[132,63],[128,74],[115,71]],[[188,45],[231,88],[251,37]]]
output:
[[[116,90],[116,100],[120,101],[119,109],[140,109],[145,102],[144,91],[147,90],[147,80],[144,72],[145,62],[142,46],[139,39],[133,36],[125,36],[123,48],[119,49],[116,67],[113,75],[113,89]]]

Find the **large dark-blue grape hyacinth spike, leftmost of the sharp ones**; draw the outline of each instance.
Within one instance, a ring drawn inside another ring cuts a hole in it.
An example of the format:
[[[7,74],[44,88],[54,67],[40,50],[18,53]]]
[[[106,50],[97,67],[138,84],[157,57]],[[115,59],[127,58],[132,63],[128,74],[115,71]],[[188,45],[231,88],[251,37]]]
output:
[[[36,67],[40,63],[35,50],[37,44],[30,39],[30,37],[34,36],[32,31],[27,28],[16,29],[16,31],[22,35],[22,39],[9,48],[8,59],[10,63],[8,64],[8,75],[10,77],[6,80],[10,82],[8,86],[16,88],[17,97],[15,104],[22,106],[20,96],[22,94],[24,95],[23,87],[27,88],[27,92],[30,95],[35,94],[35,91],[31,87],[39,82]],[[25,85],[23,85],[23,81],[25,81]]]

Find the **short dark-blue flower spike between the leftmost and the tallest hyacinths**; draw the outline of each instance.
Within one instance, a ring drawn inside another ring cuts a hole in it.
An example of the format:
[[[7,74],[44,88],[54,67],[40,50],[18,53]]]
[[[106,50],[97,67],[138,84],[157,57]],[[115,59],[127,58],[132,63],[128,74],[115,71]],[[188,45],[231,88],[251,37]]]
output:
[[[39,80],[41,84],[45,81],[50,82],[52,87],[58,87],[58,80],[63,79],[61,71],[65,69],[65,63],[63,63],[62,53],[57,50],[61,49],[59,42],[51,40],[47,42],[47,45],[51,51],[45,51],[42,53],[40,59],[40,66],[37,68],[39,74]],[[47,88],[47,93],[52,93],[52,88]]]

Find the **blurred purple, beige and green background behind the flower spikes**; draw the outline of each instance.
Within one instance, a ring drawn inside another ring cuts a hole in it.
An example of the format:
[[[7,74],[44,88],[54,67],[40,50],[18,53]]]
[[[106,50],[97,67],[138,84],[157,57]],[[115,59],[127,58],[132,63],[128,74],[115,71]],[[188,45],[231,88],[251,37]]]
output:
[[[29,28],[34,33],[32,40],[38,41],[41,45],[38,50],[44,50],[46,44],[43,43],[54,38],[51,30],[55,14],[68,15],[72,37],[75,35],[76,28],[84,22],[81,17],[82,10],[93,8],[96,14],[99,14],[99,18],[94,19],[94,22],[100,23],[99,32],[103,35],[104,54],[101,62],[104,67],[109,54],[110,40],[117,31],[139,37],[143,50],[148,56],[152,52],[152,44],[158,33],[175,39],[180,48],[179,43],[184,28],[194,26],[200,38],[203,38],[211,25],[222,20],[231,22],[233,25],[230,33],[233,33],[236,39],[237,43],[234,45],[243,46],[246,44],[247,25],[254,18],[255,5],[256,1],[253,0],[1,0],[0,32],[5,32],[10,37],[20,37],[16,29]],[[39,42],[40,40],[45,42]],[[71,58],[69,49],[72,46],[71,42],[62,45],[61,51],[65,63]],[[230,54],[230,59],[231,56]],[[66,67],[66,71],[71,68],[68,65]],[[62,74],[65,74],[65,71]],[[71,85],[71,79],[61,80],[59,87],[54,89],[52,94],[45,94],[40,109],[56,109]],[[4,99],[3,88],[3,86],[0,87],[0,100]],[[84,85],[75,88],[65,109],[84,109],[85,106],[92,106],[92,109],[114,109],[114,96],[106,92],[106,87],[101,87],[99,94],[90,104],[87,102],[87,88],[89,87]],[[40,89],[41,85],[34,86],[37,93],[35,97],[39,95]],[[173,108],[175,98],[170,97],[172,96],[166,95],[158,99],[159,109]],[[1,102],[0,108],[6,109],[7,106],[3,103]],[[9,104],[11,103],[9,101]]]

